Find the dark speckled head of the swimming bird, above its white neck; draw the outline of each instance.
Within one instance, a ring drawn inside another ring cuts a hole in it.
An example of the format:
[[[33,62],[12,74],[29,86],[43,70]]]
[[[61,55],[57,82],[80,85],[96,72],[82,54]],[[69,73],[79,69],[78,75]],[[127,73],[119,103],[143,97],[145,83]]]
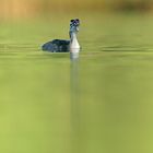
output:
[[[76,33],[79,32],[80,20],[71,20],[70,21],[70,32]]]

